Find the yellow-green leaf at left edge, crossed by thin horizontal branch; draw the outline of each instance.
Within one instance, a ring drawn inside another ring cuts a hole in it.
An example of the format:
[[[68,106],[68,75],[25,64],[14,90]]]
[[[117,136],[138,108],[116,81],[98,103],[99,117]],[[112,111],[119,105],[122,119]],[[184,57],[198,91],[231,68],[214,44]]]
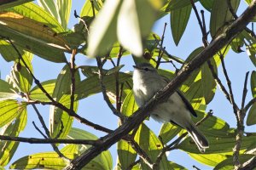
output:
[[[26,127],[26,108],[20,109],[20,116],[9,123],[9,125],[3,127],[1,135],[16,137]],[[17,150],[19,142],[1,140],[0,142],[0,165],[6,166]]]

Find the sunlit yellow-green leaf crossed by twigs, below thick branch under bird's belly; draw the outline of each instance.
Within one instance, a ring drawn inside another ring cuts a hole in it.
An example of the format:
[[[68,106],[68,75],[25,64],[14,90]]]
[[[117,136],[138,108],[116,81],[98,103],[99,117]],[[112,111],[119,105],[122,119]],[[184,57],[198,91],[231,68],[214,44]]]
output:
[[[156,135],[145,125],[142,124],[134,137],[139,146],[147,153],[149,158],[155,162],[163,146]],[[143,161],[141,161],[143,169],[150,169]],[[167,161],[166,155],[160,161],[160,169],[170,169],[170,164]]]

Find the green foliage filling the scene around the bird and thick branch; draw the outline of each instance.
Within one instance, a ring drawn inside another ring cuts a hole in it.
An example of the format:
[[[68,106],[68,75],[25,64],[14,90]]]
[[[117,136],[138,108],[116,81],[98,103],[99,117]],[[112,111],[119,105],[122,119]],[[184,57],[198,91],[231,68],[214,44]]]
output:
[[[232,11],[236,14],[240,0],[227,2],[194,0],[196,7],[200,6],[210,13],[210,17],[205,19],[209,21],[209,26],[203,26],[203,29],[205,33],[209,33],[207,35],[212,40],[219,35],[224,37],[224,31],[229,29],[230,23],[237,17]],[[249,4],[253,1],[246,2]],[[105,133],[113,133],[104,128],[104,125],[99,126],[89,122],[78,113],[81,100],[90,99],[90,96],[101,92],[106,94],[105,98],[108,99],[105,100],[116,115],[120,112],[122,116],[128,117],[137,111],[132,93],[131,72],[122,71],[124,65],[119,65],[123,56],[128,55],[135,63],[150,62],[159,68],[160,75],[172,79],[178,69],[164,69],[162,67],[164,62],[182,65],[180,69],[185,69],[185,64],[206,48],[195,48],[188,57],[181,59],[169,54],[163,48],[164,33],[160,37],[151,32],[155,21],[168,15],[173,38],[170,41],[178,45],[184,31],[189,29],[187,24],[192,20],[191,15],[196,8],[189,0],[108,0],[106,2],[87,0],[79,13],[80,16],[76,14],[79,23],[70,29],[68,23],[72,3],[72,0],[38,0],[38,3],[18,0],[0,3],[0,54],[6,62],[14,62],[14,67],[6,80],[0,79],[1,139],[6,136],[19,137],[26,127],[27,116],[30,116],[27,107],[32,105],[38,112],[36,105],[42,104],[50,105],[49,128],[45,126],[44,121],[41,121],[42,126],[46,128],[44,138],[69,139],[71,143],[65,144],[61,150],[58,149],[61,145],[54,143],[52,145],[55,152],[37,153],[12,160],[19,142],[15,141],[15,138],[0,140],[0,168],[11,162],[9,168],[60,169],[69,165],[67,160],[73,160],[83,155],[86,150],[101,144],[101,139],[92,133],[73,127],[73,122],[78,120]],[[202,21],[205,25],[204,20]],[[166,30],[166,26],[164,29]],[[202,34],[204,34],[203,30]],[[194,121],[200,122],[205,118],[199,125],[201,132],[207,136],[210,143],[210,148],[205,153],[197,150],[188,136],[177,141],[185,134],[181,127],[166,122],[160,128],[160,133],[154,133],[153,129],[142,123],[117,143],[118,159],[115,168],[150,169],[150,164],[152,166],[155,162],[158,162],[157,166],[160,169],[185,168],[183,165],[169,161],[166,156],[166,145],[175,142],[168,148],[171,152],[183,150],[195,161],[215,169],[233,169],[235,163],[233,148],[236,145],[237,135],[242,129],[239,129],[239,126],[232,128],[228,120],[209,115],[207,105],[215,97],[218,67],[220,63],[224,66],[225,55],[231,50],[239,54],[242,52],[241,48],[246,48],[247,59],[256,65],[255,47],[256,38],[253,31],[248,28],[241,31],[228,45],[212,56],[208,63],[191,72],[190,77],[180,87],[197,112],[198,116]],[[96,58],[98,65],[76,65],[74,59],[76,55]],[[68,56],[70,62],[67,61]],[[55,65],[58,63],[65,65],[55,79],[39,82],[38,77],[33,75],[32,58],[34,57],[54,62]],[[102,69],[102,65],[108,62],[112,63],[113,67]],[[255,71],[251,74],[250,83],[255,100]],[[256,124],[256,102],[253,99],[250,105],[243,105],[241,109],[235,111],[236,114],[239,111],[243,111],[244,115],[247,114],[247,126]],[[116,107],[112,108],[112,104],[116,104]],[[38,117],[40,119],[39,112]],[[119,122],[119,126],[121,124]],[[255,133],[244,135],[241,131],[240,137],[242,139],[238,159],[243,163],[255,157],[253,150],[256,147],[254,144],[256,135]],[[94,143],[73,144],[72,141],[77,139],[92,140]],[[21,138],[18,141],[21,141]],[[113,168],[113,157],[108,148],[105,150],[92,159],[84,169]]]

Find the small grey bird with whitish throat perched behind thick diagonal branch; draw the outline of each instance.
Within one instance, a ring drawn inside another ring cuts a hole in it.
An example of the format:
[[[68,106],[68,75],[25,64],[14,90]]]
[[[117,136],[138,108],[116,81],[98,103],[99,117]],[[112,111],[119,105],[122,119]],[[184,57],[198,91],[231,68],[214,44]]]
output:
[[[148,63],[134,65],[133,94],[138,106],[144,105],[161,88],[166,87],[168,81],[161,77],[156,69]],[[201,152],[209,147],[206,137],[195,126],[191,114],[196,116],[195,110],[183,94],[176,90],[165,102],[156,105],[150,116],[158,122],[172,122],[185,128],[195,141]]]

